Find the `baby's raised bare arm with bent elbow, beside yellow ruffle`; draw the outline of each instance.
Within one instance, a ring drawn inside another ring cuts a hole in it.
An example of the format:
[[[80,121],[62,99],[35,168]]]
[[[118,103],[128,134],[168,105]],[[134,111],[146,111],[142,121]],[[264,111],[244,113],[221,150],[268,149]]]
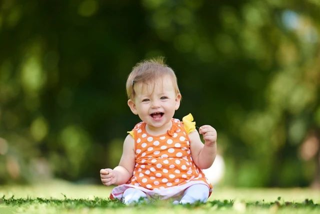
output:
[[[200,134],[203,135],[204,144],[201,142]],[[209,168],[216,155],[216,131],[212,126],[203,125],[199,133],[194,130],[189,133],[190,150],[192,159],[199,168]]]

